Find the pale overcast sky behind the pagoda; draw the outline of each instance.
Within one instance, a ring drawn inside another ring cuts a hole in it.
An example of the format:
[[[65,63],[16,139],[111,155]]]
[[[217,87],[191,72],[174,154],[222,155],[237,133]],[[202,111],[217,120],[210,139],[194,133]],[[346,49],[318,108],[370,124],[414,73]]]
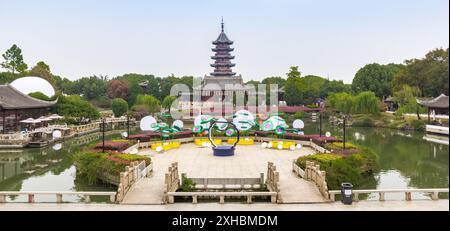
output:
[[[365,64],[449,45],[448,0],[0,0],[0,16],[1,53],[17,44],[69,79],[204,76],[222,16],[245,80],[295,65],[351,83]]]

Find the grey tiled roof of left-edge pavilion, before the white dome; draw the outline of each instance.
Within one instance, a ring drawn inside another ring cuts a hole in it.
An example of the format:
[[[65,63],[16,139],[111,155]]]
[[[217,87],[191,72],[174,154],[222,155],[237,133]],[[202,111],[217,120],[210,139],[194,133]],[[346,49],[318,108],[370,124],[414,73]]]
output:
[[[3,109],[46,108],[55,105],[55,101],[44,101],[25,95],[11,85],[0,85],[0,107]]]

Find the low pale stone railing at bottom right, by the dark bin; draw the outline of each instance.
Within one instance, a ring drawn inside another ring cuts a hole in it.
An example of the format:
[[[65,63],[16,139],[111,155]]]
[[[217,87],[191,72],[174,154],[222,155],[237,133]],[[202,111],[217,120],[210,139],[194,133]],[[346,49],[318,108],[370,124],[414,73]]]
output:
[[[360,194],[371,194],[378,193],[378,199],[380,201],[385,201],[386,193],[404,193],[405,200],[412,200],[412,193],[430,193],[432,200],[439,200],[439,193],[448,193],[448,188],[435,188],[435,189],[373,189],[373,190],[352,190],[353,201],[359,201]],[[335,195],[341,194],[340,190],[330,190],[330,200],[335,201]]]

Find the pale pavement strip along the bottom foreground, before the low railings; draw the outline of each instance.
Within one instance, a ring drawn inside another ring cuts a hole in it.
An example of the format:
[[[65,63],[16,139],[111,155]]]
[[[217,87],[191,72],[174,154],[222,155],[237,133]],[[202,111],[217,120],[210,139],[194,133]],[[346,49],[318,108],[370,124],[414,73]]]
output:
[[[360,201],[311,204],[176,203],[167,205],[4,203],[0,211],[449,211],[448,200]]]

